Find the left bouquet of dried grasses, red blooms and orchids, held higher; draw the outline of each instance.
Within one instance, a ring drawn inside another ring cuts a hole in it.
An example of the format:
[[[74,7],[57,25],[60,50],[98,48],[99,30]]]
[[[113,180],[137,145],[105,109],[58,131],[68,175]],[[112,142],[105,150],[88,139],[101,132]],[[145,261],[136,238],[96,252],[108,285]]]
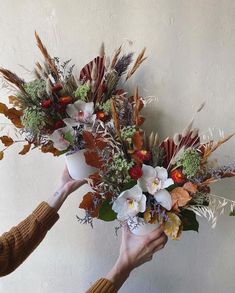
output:
[[[76,75],[71,60],[52,58],[36,32],[35,37],[44,60],[36,62],[33,80],[26,82],[0,68],[3,79],[14,89],[9,96],[13,107],[0,103],[0,113],[16,130],[13,136],[0,137],[5,146],[0,159],[11,145],[22,142],[21,155],[34,148],[55,156],[84,149],[83,131],[92,132],[97,121],[110,122],[111,98],[122,100],[125,94],[119,88],[120,79],[125,75],[127,81],[145,60],[143,49],[129,68],[133,53],[123,54],[120,47],[110,59],[102,45],[99,56]]]

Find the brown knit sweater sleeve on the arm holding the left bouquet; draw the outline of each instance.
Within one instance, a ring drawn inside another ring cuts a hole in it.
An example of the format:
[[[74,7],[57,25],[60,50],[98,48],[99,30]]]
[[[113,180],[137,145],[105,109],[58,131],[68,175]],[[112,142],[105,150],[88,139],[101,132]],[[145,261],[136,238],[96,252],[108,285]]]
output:
[[[14,271],[39,245],[59,215],[42,202],[24,221],[0,236],[0,277]]]

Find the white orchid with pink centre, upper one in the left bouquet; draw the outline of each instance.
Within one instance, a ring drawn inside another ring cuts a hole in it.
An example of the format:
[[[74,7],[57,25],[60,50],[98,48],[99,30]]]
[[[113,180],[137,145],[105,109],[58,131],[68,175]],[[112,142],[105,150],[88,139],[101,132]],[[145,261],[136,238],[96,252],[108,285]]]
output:
[[[69,126],[79,126],[80,124],[91,124],[95,121],[94,103],[86,103],[78,100],[74,104],[69,104],[66,107],[66,112],[70,118],[65,118],[63,121]]]

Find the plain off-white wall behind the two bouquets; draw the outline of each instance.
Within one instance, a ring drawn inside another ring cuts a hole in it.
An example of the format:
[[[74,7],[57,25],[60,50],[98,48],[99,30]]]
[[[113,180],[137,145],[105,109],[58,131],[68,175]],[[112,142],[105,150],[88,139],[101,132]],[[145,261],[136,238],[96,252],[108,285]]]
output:
[[[135,51],[147,47],[149,58],[130,88],[138,83],[143,95],[159,97],[146,109],[146,128],[172,135],[206,100],[196,125],[234,131],[235,1],[1,0],[0,11],[1,65],[19,74],[19,64],[32,68],[39,56],[35,29],[52,55],[72,57],[78,66],[95,56],[102,40],[112,52],[131,39]],[[235,160],[234,147],[233,139],[217,153],[221,163]],[[0,233],[55,191],[63,169],[62,158],[37,151],[19,157],[17,150],[0,162]],[[227,180],[215,192],[235,199],[234,188]],[[59,222],[30,258],[0,280],[0,292],[80,293],[109,270],[119,246],[115,224],[95,222],[93,230],[79,225],[79,194],[65,203]],[[216,230],[200,220],[199,234],[169,241],[121,292],[234,292],[234,256],[235,219],[221,217]]]

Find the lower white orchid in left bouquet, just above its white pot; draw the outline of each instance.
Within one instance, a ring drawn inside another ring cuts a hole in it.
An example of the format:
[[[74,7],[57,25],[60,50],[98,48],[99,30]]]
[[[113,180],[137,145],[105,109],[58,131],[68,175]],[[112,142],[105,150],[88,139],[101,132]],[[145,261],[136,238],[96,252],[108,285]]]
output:
[[[73,128],[67,126],[67,127],[56,129],[50,135],[50,140],[53,142],[53,145],[57,150],[64,151],[69,147],[70,142],[65,139],[65,135],[71,131],[73,131]]]

